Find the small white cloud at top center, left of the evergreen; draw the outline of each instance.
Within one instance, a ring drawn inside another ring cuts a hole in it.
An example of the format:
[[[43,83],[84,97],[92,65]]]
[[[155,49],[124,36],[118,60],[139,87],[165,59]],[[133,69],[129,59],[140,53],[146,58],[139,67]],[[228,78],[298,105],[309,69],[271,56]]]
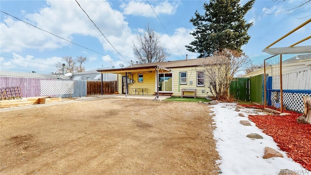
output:
[[[176,9],[179,5],[179,1],[173,1],[173,3],[169,3],[166,1],[159,1],[156,5],[151,5],[152,10],[149,3],[145,3],[146,1],[136,0],[129,1],[127,4],[123,3],[120,7],[123,9],[123,13],[125,15],[134,15],[134,16],[143,16],[143,17],[153,17],[155,18],[155,13],[157,15],[167,14],[172,15],[176,12]],[[155,2],[155,1],[152,1]]]

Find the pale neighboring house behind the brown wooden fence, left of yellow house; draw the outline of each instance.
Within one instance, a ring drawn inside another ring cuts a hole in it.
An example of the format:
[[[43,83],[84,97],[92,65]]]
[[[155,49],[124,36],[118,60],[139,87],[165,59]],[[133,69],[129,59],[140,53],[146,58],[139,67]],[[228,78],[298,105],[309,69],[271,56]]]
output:
[[[103,68],[110,69],[110,68]],[[74,73],[72,76],[73,80],[85,80],[85,81],[100,81],[102,79],[102,74],[96,70],[87,70],[79,73]],[[117,75],[114,73],[104,73],[103,81],[116,81]]]

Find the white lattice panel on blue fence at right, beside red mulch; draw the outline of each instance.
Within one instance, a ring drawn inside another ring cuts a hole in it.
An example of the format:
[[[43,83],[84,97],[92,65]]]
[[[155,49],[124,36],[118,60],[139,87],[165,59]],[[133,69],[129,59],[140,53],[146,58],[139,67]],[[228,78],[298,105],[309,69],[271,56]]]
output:
[[[270,100],[272,106],[276,106],[275,95],[276,92],[271,92]],[[283,92],[283,105],[285,105],[288,110],[304,112],[303,96],[311,96],[311,94]],[[280,93],[277,93],[277,98],[281,98]]]

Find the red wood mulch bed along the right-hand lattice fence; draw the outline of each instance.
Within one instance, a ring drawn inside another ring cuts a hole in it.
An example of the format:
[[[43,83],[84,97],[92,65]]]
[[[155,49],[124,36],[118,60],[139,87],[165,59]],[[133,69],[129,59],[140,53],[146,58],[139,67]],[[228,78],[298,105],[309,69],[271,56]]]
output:
[[[262,108],[262,105],[243,105]],[[296,119],[302,114],[283,111],[292,115],[250,115],[248,118],[256,123],[262,132],[273,137],[277,146],[287,153],[295,162],[311,171],[311,124],[300,124]]]

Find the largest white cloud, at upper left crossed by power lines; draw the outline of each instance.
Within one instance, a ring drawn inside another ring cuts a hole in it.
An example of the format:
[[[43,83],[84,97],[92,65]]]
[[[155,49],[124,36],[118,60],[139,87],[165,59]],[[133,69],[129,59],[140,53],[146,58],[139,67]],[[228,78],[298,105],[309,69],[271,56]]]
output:
[[[21,15],[25,15],[23,20],[69,41],[72,41],[73,35],[97,37],[105,50],[114,51],[110,44],[106,44],[108,42],[103,39],[104,36],[75,1],[48,0],[47,3],[48,6],[37,13],[25,14],[25,11],[22,11]],[[84,0],[79,3],[106,37],[122,37],[130,34],[123,15],[113,10],[109,2]],[[1,52],[17,52],[25,49],[45,51],[72,45],[22,21],[13,20],[11,17],[5,17],[5,20],[0,23],[0,32]],[[113,41],[111,43],[114,44]],[[77,44],[84,45],[83,43]]]

